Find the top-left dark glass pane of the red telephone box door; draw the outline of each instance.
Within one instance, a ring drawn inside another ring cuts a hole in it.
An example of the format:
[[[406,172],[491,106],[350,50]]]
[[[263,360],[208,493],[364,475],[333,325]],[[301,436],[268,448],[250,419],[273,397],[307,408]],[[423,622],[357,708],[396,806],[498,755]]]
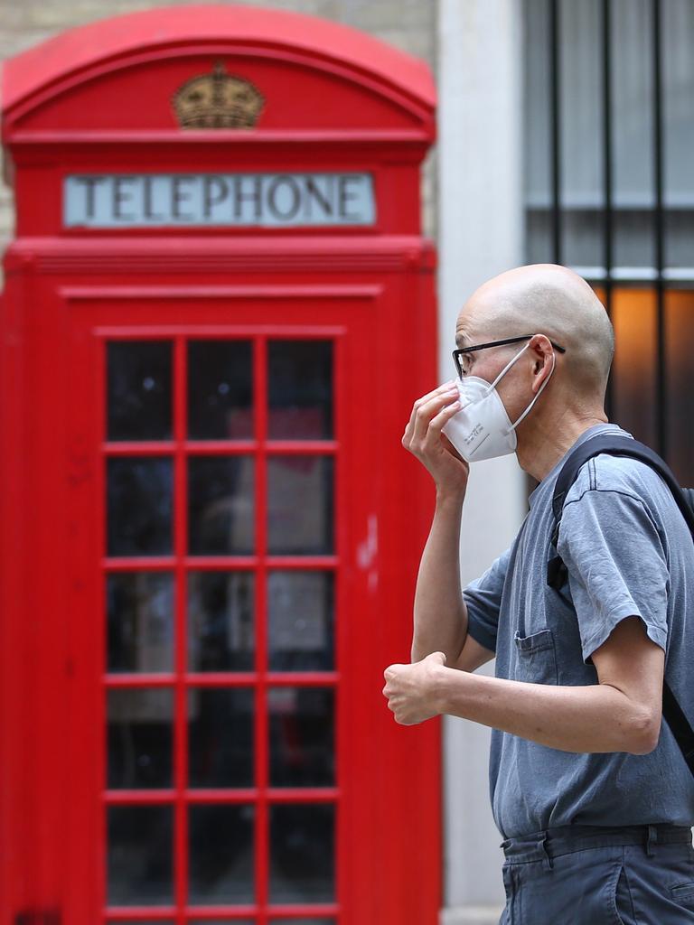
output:
[[[171,342],[113,340],[106,347],[107,438],[171,438]]]

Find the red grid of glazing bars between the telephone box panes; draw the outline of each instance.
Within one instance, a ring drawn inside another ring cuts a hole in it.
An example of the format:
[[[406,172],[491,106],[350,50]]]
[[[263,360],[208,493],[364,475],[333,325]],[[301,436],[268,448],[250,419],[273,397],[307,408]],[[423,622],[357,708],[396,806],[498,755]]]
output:
[[[253,287],[248,287],[252,290]],[[266,289],[269,290],[269,287]],[[140,293],[141,296],[143,293]],[[254,293],[249,293],[253,298]],[[275,292],[275,301],[280,293]],[[147,292],[146,296],[151,297]],[[310,287],[303,288],[304,298],[316,298],[316,294],[311,292]],[[328,299],[330,296],[339,302],[341,298],[340,287],[324,287],[322,298]],[[132,296],[131,296],[132,298]],[[159,296],[166,298],[166,296]],[[217,296],[218,298],[218,296]],[[104,301],[102,295],[100,302]],[[160,309],[161,311],[161,309]],[[166,311],[166,309],[164,310]],[[277,310],[276,310],[277,311]],[[197,309],[198,314],[200,309]],[[105,395],[105,342],[114,339],[172,339],[174,347],[174,424],[175,436],[173,444],[170,446],[169,454],[173,455],[174,465],[174,509],[177,512],[174,519],[174,552],[171,557],[161,558],[157,561],[157,568],[167,569],[168,572],[176,575],[176,666],[173,675],[169,674],[137,674],[128,677],[108,676],[104,672],[104,683],[106,688],[123,688],[123,687],[142,687],[149,686],[174,686],[176,691],[175,704],[175,731],[174,741],[176,744],[174,752],[173,767],[176,771],[174,788],[170,791],[123,791],[114,790],[106,791],[105,803],[109,806],[116,805],[137,805],[152,803],[168,803],[173,801],[176,810],[175,814],[175,850],[174,850],[174,871],[175,871],[175,905],[173,907],[160,910],[161,918],[173,918],[180,920],[181,925],[184,918],[177,914],[177,910],[184,909],[187,906],[187,874],[188,874],[188,849],[187,849],[187,815],[186,810],[192,805],[219,805],[219,804],[247,804],[254,803],[256,809],[256,829],[258,838],[254,842],[255,847],[255,885],[256,885],[256,906],[260,911],[256,912],[254,906],[235,907],[229,906],[210,906],[203,907],[205,915],[215,915],[218,918],[226,917],[229,919],[252,917],[258,922],[258,925],[266,925],[268,919],[263,911],[268,903],[267,896],[267,856],[268,856],[268,805],[283,802],[301,804],[330,802],[335,804],[338,817],[341,812],[342,788],[340,782],[335,787],[320,788],[290,788],[273,789],[267,782],[267,768],[269,765],[269,755],[267,749],[268,730],[267,730],[267,707],[266,692],[270,685],[330,685],[341,691],[341,672],[340,665],[344,660],[343,646],[345,641],[345,631],[342,629],[344,617],[341,614],[341,561],[343,560],[342,546],[346,533],[343,526],[343,513],[341,504],[336,504],[336,536],[334,537],[335,554],[332,556],[277,556],[268,555],[266,551],[266,457],[275,455],[279,452],[293,454],[304,454],[315,456],[316,453],[324,454],[328,451],[336,455],[336,450],[345,441],[341,435],[341,402],[335,402],[335,438],[332,440],[301,440],[301,441],[268,441],[266,438],[267,431],[267,370],[266,370],[266,342],[267,339],[330,339],[335,345],[335,364],[333,370],[333,394],[338,393],[340,383],[343,383],[344,376],[341,366],[343,359],[341,356],[342,347],[341,339],[346,333],[343,325],[328,327],[326,325],[313,325],[297,328],[296,326],[287,327],[281,324],[258,325],[233,325],[233,326],[186,326],[183,330],[180,328],[171,328],[163,325],[162,327],[147,327],[146,333],[143,333],[143,327],[138,324],[134,327],[123,325],[122,327],[95,327],[92,330],[93,337],[99,340],[98,366],[100,376],[96,394]],[[224,441],[202,441],[186,439],[186,341],[189,337],[208,338],[208,339],[252,339],[254,353],[254,376],[253,376],[253,394],[254,401],[254,431],[257,434],[257,440],[246,441],[238,440],[233,442]],[[156,453],[162,455],[162,443],[140,444],[140,443],[107,443],[104,438],[105,420],[104,410],[101,409],[100,426],[102,431],[102,454],[105,458],[131,455],[148,455]],[[142,453],[141,453],[142,450]],[[186,462],[191,455],[200,456],[205,453],[213,453],[219,457],[222,455],[254,455],[254,511],[255,511],[255,546],[257,553],[255,556],[229,556],[229,557],[204,557],[204,556],[187,556],[186,547],[188,536],[188,526],[186,514],[188,503],[185,486]],[[338,457],[339,458],[339,457]],[[338,477],[335,482],[340,486],[339,465],[337,468]],[[99,466],[99,473],[104,475],[103,463]],[[337,491],[338,498],[344,496],[344,490]],[[98,490],[98,496],[102,499],[102,511],[99,518],[100,524],[105,524],[105,511],[103,510],[103,499],[105,498],[105,484],[102,483]],[[149,558],[118,558],[104,559],[102,568],[104,571],[117,570],[134,570],[146,569],[149,571]],[[334,672],[270,672],[267,668],[267,637],[266,637],[266,573],[274,568],[301,568],[304,569],[329,569],[336,575],[336,599],[338,606],[335,613],[335,622],[338,627],[337,638],[339,644],[335,653],[337,670]],[[186,652],[188,639],[188,629],[186,623],[186,601],[187,595],[187,573],[189,569],[195,571],[204,570],[253,570],[254,581],[254,601],[255,601],[255,660],[256,668],[254,672],[188,672],[186,670]],[[93,572],[98,572],[94,568]],[[102,613],[101,624],[105,625],[105,614]],[[104,639],[102,638],[99,646],[101,651],[105,650]],[[193,686],[215,686],[215,687],[237,687],[250,686],[255,687],[255,724],[254,724],[254,742],[256,743],[254,752],[254,767],[256,786],[254,788],[242,789],[234,788],[219,790],[213,788],[188,790],[185,786],[184,769],[188,764],[187,761],[187,702],[186,695],[188,690]],[[341,747],[341,733],[344,728],[344,722],[340,722],[340,713],[336,717],[337,741],[335,751],[338,760],[336,762],[340,776],[343,761],[341,755],[344,749]],[[99,716],[95,724],[105,729],[105,717]],[[102,756],[106,754],[105,738],[100,747]],[[104,769],[102,770],[102,780],[104,779]],[[341,828],[338,828],[341,832]],[[340,839],[343,841],[343,839]],[[106,844],[105,832],[102,832],[98,840],[99,845]],[[336,857],[346,857],[348,851],[344,845],[336,845]],[[105,857],[102,856],[101,870],[104,870]],[[336,871],[336,894],[341,895],[341,868]],[[102,882],[102,894],[105,895],[105,882]],[[201,907],[197,907],[191,915],[199,916]],[[337,915],[340,912],[340,904],[316,904],[315,906],[297,905],[294,907],[273,907],[273,916],[281,915],[283,912],[293,912],[303,915]],[[151,909],[150,909],[151,913]],[[111,909],[111,913],[106,920],[115,919],[118,914],[120,919],[128,920],[129,918],[142,918],[147,915],[147,907],[132,908],[123,907],[121,909]]]

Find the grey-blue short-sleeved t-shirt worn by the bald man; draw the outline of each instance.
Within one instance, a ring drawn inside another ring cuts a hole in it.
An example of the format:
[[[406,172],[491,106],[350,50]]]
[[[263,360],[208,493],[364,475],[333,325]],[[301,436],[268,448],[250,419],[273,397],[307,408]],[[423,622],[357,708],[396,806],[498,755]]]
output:
[[[599,424],[574,446],[610,432],[632,436]],[[511,547],[465,587],[468,632],[496,652],[497,677],[595,685],[590,654],[636,614],[665,650],[668,683],[694,723],[694,543],[675,499],[643,462],[602,453],[585,463],[564,502],[568,581],[558,593],[546,574],[564,459],[531,494]],[[558,825],[694,824],[694,777],[664,720],[648,755],[567,752],[492,729],[490,797],[504,838]]]

